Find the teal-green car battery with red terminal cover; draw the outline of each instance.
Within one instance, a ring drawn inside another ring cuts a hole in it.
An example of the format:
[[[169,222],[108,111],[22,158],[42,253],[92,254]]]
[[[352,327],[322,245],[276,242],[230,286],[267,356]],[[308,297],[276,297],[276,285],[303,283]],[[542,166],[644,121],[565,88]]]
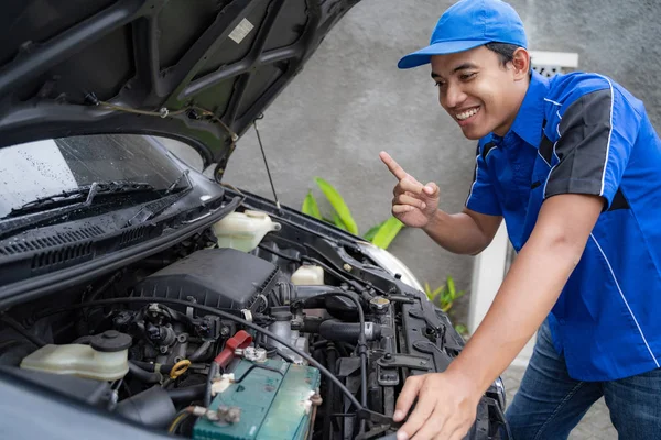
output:
[[[240,360],[193,427],[195,440],[303,440],[312,429],[313,395],[321,373],[306,365],[268,359]],[[226,380],[227,381],[227,380]]]

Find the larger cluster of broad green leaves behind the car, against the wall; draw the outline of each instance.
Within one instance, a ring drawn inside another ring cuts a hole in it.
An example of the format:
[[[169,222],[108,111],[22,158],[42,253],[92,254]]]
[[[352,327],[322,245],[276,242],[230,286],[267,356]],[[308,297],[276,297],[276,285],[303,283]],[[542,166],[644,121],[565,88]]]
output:
[[[333,212],[329,217],[322,213],[312,190],[307,191],[307,195],[303,199],[301,211],[315,219],[335,224],[337,228],[355,235],[359,235],[358,224],[354,220],[349,207],[337,189],[322,177],[315,177],[314,182],[330,204]],[[388,249],[403,226],[404,224],[401,221],[391,216],[389,219],[369,228],[362,238],[379,248]]]

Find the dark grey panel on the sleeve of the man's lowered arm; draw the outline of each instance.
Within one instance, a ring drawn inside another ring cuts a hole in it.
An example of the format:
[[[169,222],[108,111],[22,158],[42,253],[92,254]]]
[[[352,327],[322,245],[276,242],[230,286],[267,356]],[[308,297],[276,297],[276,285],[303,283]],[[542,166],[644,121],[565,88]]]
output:
[[[549,175],[545,197],[602,194],[610,141],[611,90],[583,95],[562,116],[555,154],[560,163]]]

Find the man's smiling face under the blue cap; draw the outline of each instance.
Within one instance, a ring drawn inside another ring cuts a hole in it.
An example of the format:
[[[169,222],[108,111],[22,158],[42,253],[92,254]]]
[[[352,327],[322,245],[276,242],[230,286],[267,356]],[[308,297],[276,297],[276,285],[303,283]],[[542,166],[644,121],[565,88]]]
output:
[[[507,133],[528,90],[529,66],[523,48],[502,65],[498,54],[479,46],[432,56],[432,78],[441,106],[466,138],[477,140],[490,132]]]

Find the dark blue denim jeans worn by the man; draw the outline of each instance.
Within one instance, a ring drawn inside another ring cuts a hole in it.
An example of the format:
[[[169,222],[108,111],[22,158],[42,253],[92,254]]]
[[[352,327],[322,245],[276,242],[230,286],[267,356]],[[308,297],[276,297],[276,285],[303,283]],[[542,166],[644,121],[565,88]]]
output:
[[[618,381],[575,381],[544,322],[506,418],[514,440],[566,439],[602,396],[620,440],[661,439],[661,369]]]

